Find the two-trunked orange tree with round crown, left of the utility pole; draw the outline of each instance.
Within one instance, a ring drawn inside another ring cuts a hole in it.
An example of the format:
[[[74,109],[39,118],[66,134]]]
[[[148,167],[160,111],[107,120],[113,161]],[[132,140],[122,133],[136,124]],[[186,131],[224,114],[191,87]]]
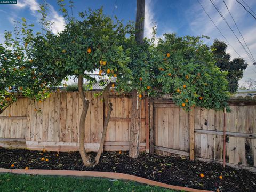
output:
[[[69,18],[65,29],[58,35],[49,31],[44,36],[38,35],[34,39],[35,51],[32,56],[34,63],[49,76],[78,77],[78,91],[83,101],[79,122],[79,152],[84,165],[91,165],[84,147],[85,118],[90,101],[84,93],[83,81],[85,79],[90,85],[97,81],[91,74],[101,77],[101,83],[106,85],[103,96],[109,107],[109,121],[111,105],[106,97],[109,87],[117,86],[117,90],[125,90],[126,82],[132,80],[131,70],[127,68],[130,51],[122,47],[125,35],[132,26],[124,26],[118,20],[114,23],[111,18],[103,15],[102,9],[89,10],[79,15],[79,20]],[[116,85],[112,85],[112,82],[116,82]],[[105,121],[104,130],[107,129],[108,121]],[[102,134],[102,137],[104,141],[105,135]],[[100,153],[102,149],[100,148]]]

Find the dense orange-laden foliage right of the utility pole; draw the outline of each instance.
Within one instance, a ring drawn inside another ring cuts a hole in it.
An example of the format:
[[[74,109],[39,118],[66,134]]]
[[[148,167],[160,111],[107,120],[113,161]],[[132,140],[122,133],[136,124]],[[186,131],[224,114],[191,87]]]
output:
[[[203,38],[165,34],[159,39],[153,60],[155,86],[185,110],[191,106],[222,110],[228,107],[227,73],[214,65]]]

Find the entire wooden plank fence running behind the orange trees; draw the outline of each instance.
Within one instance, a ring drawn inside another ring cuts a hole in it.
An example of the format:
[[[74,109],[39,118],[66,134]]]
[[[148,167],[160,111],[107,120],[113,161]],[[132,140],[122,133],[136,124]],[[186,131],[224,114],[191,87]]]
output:
[[[97,151],[106,115],[102,97],[90,91],[85,121],[85,147]],[[131,98],[110,92],[113,103],[104,150],[129,150]],[[226,162],[256,167],[256,97],[229,102],[226,114]],[[0,146],[53,151],[78,150],[78,124],[82,100],[78,92],[57,92],[43,102],[19,98],[0,115]],[[149,117],[149,118],[148,118]],[[172,100],[142,100],[141,150],[223,160],[223,113],[195,107],[190,113]],[[253,168],[254,167],[254,168]]]

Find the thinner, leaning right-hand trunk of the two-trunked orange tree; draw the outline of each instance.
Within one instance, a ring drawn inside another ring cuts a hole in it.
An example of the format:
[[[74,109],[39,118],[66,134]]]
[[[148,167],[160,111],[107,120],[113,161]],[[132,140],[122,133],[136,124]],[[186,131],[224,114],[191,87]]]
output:
[[[100,148],[98,150],[97,156],[95,157],[95,165],[97,165],[99,163],[100,156],[103,151],[103,146],[104,146],[105,137],[106,137],[106,133],[107,133],[108,123],[110,120],[111,112],[113,110],[112,103],[109,101],[109,98],[108,98],[109,88],[110,88],[110,84],[108,84],[103,91],[103,100],[104,100],[105,106],[107,107],[108,113],[107,113],[107,117],[104,119],[103,131],[102,131],[102,136],[101,136],[101,141],[100,141]]]

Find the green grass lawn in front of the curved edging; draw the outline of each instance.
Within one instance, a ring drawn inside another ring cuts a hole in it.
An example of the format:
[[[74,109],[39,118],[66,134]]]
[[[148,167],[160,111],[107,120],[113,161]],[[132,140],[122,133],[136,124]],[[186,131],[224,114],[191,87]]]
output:
[[[0,191],[174,191],[137,182],[87,177],[0,174]]]

